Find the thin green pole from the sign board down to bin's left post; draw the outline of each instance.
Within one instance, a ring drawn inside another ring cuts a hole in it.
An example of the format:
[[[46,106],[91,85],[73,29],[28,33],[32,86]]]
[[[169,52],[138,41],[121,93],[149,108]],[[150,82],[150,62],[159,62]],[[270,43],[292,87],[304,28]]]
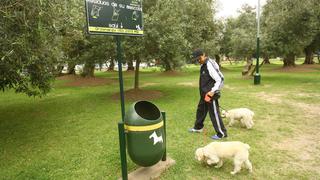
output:
[[[117,41],[117,60],[119,72],[119,85],[120,85],[120,99],[121,99],[121,117],[124,122],[125,107],[124,107],[124,93],[123,93],[123,77],[122,77],[122,49],[121,49],[121,36],[115,36]]]

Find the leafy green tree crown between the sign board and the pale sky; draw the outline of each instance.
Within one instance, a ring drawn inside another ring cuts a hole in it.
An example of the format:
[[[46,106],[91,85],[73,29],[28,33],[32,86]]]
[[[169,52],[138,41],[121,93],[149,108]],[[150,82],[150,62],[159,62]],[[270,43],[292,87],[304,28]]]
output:
[[[213,0],[161,0],[145,14],[146,50],[165,71],[181,67],[196,47],[217,51],[213,4]]]

